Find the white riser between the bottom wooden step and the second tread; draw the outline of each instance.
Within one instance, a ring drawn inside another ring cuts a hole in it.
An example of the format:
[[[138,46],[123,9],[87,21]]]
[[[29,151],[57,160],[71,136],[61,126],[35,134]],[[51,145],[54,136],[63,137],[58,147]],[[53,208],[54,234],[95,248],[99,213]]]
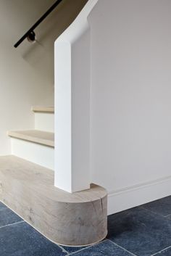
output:
[[[21,139],[11,139],[12,154],[54,170],[54,148]]]

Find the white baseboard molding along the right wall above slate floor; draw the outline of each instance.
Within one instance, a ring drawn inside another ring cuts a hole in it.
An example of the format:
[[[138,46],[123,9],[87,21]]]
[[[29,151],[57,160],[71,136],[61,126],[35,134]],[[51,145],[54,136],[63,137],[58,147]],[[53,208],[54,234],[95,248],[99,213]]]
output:
[[[143,205],[171,194],[171,176],[109,191],[108,215]]]

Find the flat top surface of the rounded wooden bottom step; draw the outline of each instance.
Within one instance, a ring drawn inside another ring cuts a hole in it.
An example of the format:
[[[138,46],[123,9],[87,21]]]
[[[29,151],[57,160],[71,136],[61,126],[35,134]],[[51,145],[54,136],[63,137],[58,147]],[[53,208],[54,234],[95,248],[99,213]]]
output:
[[[95,184],[91,184],[91,189],[70,194],[54,186],[53,170],[13,155],[0,157],[0,173],[7,181],[22,182],[32,191],[54,202],[91,202],[107,194],[106,190]]]

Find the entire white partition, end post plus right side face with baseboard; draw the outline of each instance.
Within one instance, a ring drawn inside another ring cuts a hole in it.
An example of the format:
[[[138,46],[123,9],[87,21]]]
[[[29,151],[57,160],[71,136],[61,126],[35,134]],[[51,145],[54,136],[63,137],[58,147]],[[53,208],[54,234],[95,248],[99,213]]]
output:
[[[170,12],[170,0],[88,1],[56,42],[56,186],[103,186],[109,213],[171,193]]]

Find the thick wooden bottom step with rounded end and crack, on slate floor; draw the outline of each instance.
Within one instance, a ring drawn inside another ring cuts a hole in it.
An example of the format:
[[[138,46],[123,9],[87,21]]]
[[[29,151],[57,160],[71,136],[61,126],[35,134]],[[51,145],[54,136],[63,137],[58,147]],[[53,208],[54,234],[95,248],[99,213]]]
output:
[[[53,171],[14,156],[0,157],[0,181],[0,201],[51,241],[81,246],[107,235],[107,191],[100,186],[67,193],[54,187]]]

